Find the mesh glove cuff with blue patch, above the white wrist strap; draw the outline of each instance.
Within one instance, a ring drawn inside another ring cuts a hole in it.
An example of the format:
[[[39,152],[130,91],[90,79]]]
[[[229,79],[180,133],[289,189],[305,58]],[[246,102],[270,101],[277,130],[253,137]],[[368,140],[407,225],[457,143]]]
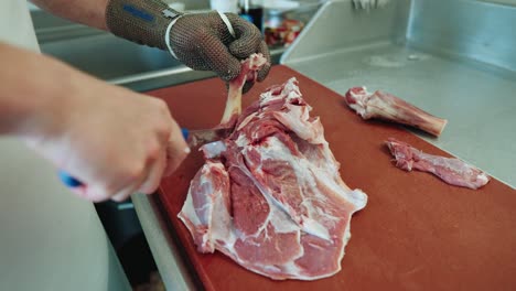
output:
[[[181,15],[159,0],[109,0],[106,24],[117,36],[168,50],[166,28]]]

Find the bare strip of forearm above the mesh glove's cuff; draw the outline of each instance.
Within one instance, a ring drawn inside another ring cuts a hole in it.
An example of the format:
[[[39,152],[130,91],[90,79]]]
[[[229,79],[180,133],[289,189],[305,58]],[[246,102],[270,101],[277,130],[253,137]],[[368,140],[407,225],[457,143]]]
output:
[[[106,6],[108,0],[31,0],[52,14],[107,30]]]

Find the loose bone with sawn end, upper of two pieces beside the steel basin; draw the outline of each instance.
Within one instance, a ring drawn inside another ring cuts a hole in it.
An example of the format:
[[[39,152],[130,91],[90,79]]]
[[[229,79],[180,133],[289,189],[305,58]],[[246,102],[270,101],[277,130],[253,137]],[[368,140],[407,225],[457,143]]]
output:
[[[441,134],[448,122],[388,93],[368,93],[366,87],[348,89],[344,99],[363,119],[378,118],[398,122],[419,128],[436,137]]]

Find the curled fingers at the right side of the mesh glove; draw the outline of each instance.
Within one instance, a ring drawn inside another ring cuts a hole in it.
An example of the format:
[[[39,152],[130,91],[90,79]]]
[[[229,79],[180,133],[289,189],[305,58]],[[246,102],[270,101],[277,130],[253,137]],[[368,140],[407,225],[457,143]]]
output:
[[[229,52],[240,60],[258,52],[262,41],[258,28],[237,15],[228,14],[228,18],[236,35],[236,40],[229,44]]]

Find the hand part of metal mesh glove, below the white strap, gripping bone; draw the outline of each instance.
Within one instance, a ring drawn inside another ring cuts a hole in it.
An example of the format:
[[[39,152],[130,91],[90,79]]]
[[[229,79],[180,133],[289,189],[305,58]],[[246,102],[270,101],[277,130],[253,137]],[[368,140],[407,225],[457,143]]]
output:
[[[230,80],[240,72],[240,60],[261,53],[269,64],[258,72],[262,80],[270,68],[270,54],[260,31],[236,14],[226,14],[235,36],[216,12],[187,14],[178,20],[171,30],[172,50],[181,62],[194,69],[216,72]]]

